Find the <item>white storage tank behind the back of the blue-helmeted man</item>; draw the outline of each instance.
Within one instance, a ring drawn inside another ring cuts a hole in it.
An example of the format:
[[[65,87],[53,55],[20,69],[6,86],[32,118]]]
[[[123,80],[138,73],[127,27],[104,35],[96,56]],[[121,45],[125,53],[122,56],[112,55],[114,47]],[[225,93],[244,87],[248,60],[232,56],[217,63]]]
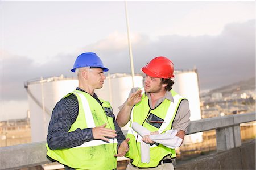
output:
[[[53,107],[67,93],[76,89],[76,78],[50,77],[27,81],[31,142],[45,141]]]

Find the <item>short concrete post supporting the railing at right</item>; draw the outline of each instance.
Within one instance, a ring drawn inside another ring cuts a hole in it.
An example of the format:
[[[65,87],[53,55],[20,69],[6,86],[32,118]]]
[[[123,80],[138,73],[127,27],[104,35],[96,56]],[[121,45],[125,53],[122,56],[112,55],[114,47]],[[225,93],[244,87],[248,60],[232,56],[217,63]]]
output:
[[[234,148],[233,127],[216,129],[217,152]]]

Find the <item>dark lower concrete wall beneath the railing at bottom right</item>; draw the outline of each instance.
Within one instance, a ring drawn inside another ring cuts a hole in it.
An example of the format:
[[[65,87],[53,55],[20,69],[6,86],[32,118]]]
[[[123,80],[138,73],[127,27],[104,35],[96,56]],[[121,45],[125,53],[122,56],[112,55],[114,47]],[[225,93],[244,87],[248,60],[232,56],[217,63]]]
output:
[[[255,140],[175,167],[175,170],[187,169],[255,169]]]

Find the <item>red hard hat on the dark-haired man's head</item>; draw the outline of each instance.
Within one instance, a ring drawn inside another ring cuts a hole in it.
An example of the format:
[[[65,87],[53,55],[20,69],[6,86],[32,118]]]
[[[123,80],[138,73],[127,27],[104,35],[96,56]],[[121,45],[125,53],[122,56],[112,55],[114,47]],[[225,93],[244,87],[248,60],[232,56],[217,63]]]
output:
[[[142,71],[150,77],[174,78],[174,64],[167,57],[159,56],[152,59]]]

